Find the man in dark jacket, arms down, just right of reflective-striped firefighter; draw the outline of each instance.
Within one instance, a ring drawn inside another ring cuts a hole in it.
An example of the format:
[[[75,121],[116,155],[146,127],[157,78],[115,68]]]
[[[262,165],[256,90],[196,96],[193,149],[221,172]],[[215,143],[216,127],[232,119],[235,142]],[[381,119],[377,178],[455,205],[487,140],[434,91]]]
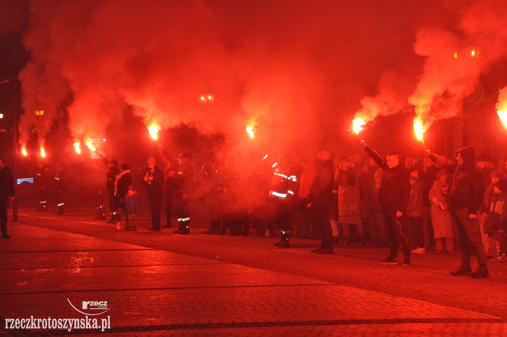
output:
[[[308,199],[315,204],[316,221],[320,227],[320,247],[312,250],[315,254],[334,254],[333,228],[331,227],[331,203],[333,202],[334,167],[331,152],[322,150],[318,154],[320,165],[317,167],[315,178]]]

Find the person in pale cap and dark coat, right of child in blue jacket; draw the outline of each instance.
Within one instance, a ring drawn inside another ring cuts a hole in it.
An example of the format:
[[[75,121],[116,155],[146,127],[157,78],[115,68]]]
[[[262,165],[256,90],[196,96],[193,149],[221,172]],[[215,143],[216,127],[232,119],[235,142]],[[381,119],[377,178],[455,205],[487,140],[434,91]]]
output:
[[[148,158],[148,168],[143,177],[142,184],[146,186],[146,194],[152,213],[152,227],[148,230],[160,230],[160,209],[162,208],[162,184],[164,175],[157,166],[155,158]]]

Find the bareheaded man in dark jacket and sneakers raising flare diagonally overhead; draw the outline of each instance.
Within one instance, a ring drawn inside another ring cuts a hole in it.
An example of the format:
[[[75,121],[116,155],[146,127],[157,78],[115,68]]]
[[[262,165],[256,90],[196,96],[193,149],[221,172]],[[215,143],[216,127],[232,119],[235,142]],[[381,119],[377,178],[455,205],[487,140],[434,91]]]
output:
[[[409,174],[403,163],[400,164],[400,156],[396,153],[387,155],[386,160],[365,141],[361,140],[365,151],[384,170],[380,183],[379,200],[382,205],[384,222],[389,230],[389,256],[380,261],[382,264],[397,264],[396,255],[401,242],[403,248],[403,264],[410,265],[411,247],[405,233],[408,199],[410,195]]]

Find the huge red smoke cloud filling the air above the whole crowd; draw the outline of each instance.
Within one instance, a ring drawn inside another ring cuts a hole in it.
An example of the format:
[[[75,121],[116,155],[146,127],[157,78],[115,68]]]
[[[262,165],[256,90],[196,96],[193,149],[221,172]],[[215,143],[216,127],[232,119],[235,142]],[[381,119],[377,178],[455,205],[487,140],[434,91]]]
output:
[[[498,27],[482,2],[444,4],[33,0],[20,143],[63,111],[77,141],[104,137],[133,113],[147,127],[224,132],[232,152],[342,144],[359,102],[368,120],[409,103],[425,118],[449,116],[496,59],[464,55],[491,49],[481,43]],[[479,17],[467,14],[474,6]],[[206,94],[212,103],[200,102]]]

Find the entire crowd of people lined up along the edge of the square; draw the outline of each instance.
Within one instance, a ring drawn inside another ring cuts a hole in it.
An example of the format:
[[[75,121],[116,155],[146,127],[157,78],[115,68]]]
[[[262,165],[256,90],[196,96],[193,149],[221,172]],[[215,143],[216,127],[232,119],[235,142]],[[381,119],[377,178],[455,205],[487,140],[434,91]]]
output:
[[[466,147],[457,151],[455,159],[427,150],[424,158],[403,160],[396,153],[383,158],[364,141],[361,145],[367,160],[359,153],[333,157],[322,150],[316,160],[282,153],[271,164],[264,160],[266,155],[252,160],[248,175],[239,174],[234,159],[208,161],[202,165],[198,188],[188,155],[173,156],[161,145],[162,166],[150,157],[146,170],[139,168],[134,180],[128,163],[118,167],[116,159],[101,157],[107,168],[108,207],[98,203],[96,219],[106,220],[108,208],[107,222],[116,224],[117,230],[137,230],[139,181],[146,187],[149,229],[154,231],[161,229],[165,195],[164,227],[172,227],[175,213],[178,224],[173,232],[190,234],[190,200],[198,189],[199,207],[209,215],[206,234],[247,236],[255,228],[256,237],[275,237],[278,230],[280,240],[275,246],[289,247],[293,237],[315,239],[321,244],[313,253],[333,254],[333,245],[366,245],[375,231],[376,245],[389,247],[381,263],[396,264],[400,246],[404,265],[410,265],[413,253],[460,255],[462,265],[451,273],[455,276],[486,277],[488,260],[507,261],[507,159],[497,167],[488,151],[476,157],[474,149]],[[8,238],[6,205],[14,191],[9,182],[12,173],[1,159],[0,163],[2,238]],[[62,166],[56,166],[53,181],[40,163],[35,180],[40,209],[46,209],[51,183],[57,194],[56,214],[64,214]],[[470,268],[473,252],[479,262],[474,273]]]

